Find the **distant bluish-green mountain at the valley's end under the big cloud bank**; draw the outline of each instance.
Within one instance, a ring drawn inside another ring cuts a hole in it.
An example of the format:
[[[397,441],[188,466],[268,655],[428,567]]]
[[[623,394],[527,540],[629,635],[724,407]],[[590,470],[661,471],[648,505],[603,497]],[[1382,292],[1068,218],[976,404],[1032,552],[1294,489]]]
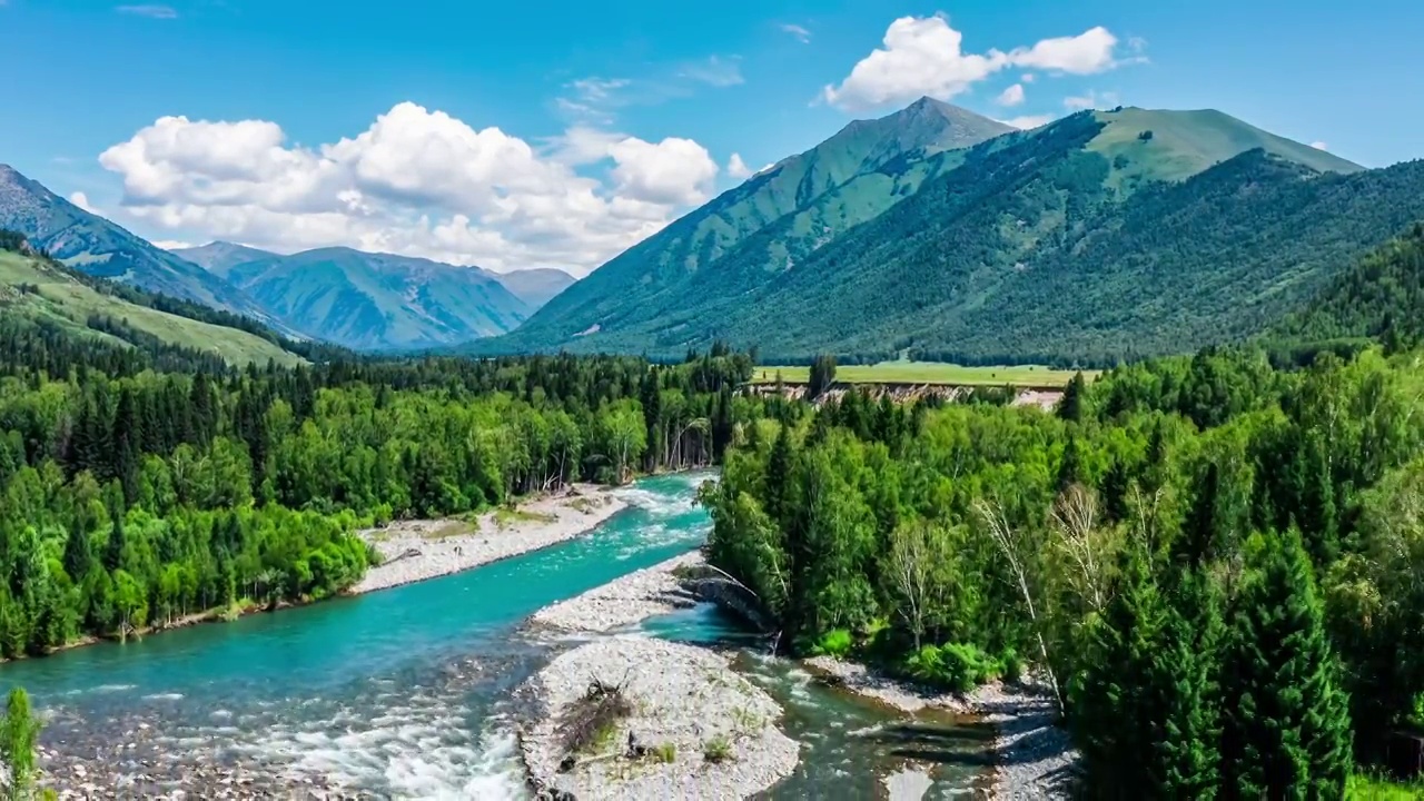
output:
[[[483,269],[350,248],[268,255],[226,275],[296,331],[360,351],[457,345],[531,311]]]

